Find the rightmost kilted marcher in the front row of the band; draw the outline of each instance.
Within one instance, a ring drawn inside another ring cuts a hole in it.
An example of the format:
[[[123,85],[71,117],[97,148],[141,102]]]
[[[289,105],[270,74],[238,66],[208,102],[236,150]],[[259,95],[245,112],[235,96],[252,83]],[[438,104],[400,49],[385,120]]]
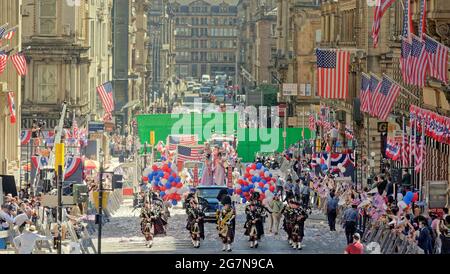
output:
[[[300,202],[289,199],[281,213],[284,216],[283,228],[288,235],[289,244],[294,249],[302,249],[305,221],[308,218],[307,211],[301,206]]]

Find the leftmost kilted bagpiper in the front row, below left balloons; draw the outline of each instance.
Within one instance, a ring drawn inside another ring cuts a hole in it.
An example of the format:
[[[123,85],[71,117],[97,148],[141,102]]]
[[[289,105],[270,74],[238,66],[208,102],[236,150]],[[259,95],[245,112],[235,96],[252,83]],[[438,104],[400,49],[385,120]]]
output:
[[[163,201],[156,195],[152,195],[151,201],[145,201],[141,210],[141,232],[145,237],[145,245],[151,248],[153,237],[156,235],[165,235],[167,220],[163,212]]]

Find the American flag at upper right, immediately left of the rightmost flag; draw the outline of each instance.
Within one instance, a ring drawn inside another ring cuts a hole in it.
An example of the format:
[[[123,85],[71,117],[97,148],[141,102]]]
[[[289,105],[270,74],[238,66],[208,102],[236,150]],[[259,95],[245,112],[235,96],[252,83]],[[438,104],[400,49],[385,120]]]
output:
[[[427,74],[428,61],[425,51],[425,43],[419,37],[413,35],[411,55],[409,56],[410,84],[423,87]]]

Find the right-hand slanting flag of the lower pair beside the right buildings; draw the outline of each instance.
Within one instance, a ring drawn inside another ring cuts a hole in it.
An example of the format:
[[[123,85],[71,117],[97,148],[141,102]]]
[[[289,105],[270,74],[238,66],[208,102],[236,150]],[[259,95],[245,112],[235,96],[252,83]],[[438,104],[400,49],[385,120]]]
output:
[[[400,86],[392,82],[386,76],[383,77],[377,102],[377,116],[380,120],[386,120],[400,94]]]

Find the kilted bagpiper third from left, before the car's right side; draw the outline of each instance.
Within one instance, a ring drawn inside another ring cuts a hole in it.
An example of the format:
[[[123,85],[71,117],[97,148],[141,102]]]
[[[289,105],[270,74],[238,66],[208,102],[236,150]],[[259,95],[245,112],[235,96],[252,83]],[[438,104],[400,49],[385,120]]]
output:
[[[231,207],[230,196],[223,198],[222,204],[223,208],[216,212],[217,230],[223,243],[222,251],[231,252],[236,227],[236,210]]]

